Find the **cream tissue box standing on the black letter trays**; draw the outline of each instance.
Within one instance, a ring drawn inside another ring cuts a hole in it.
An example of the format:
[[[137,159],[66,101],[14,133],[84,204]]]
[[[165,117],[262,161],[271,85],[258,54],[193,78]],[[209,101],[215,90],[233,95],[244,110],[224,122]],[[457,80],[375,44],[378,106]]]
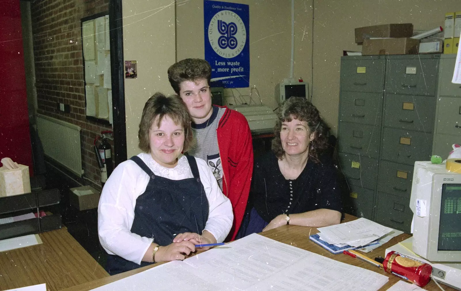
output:
[[[30,193],[29,166],[18,165],[17,169],[0,167],[0,197]]]

